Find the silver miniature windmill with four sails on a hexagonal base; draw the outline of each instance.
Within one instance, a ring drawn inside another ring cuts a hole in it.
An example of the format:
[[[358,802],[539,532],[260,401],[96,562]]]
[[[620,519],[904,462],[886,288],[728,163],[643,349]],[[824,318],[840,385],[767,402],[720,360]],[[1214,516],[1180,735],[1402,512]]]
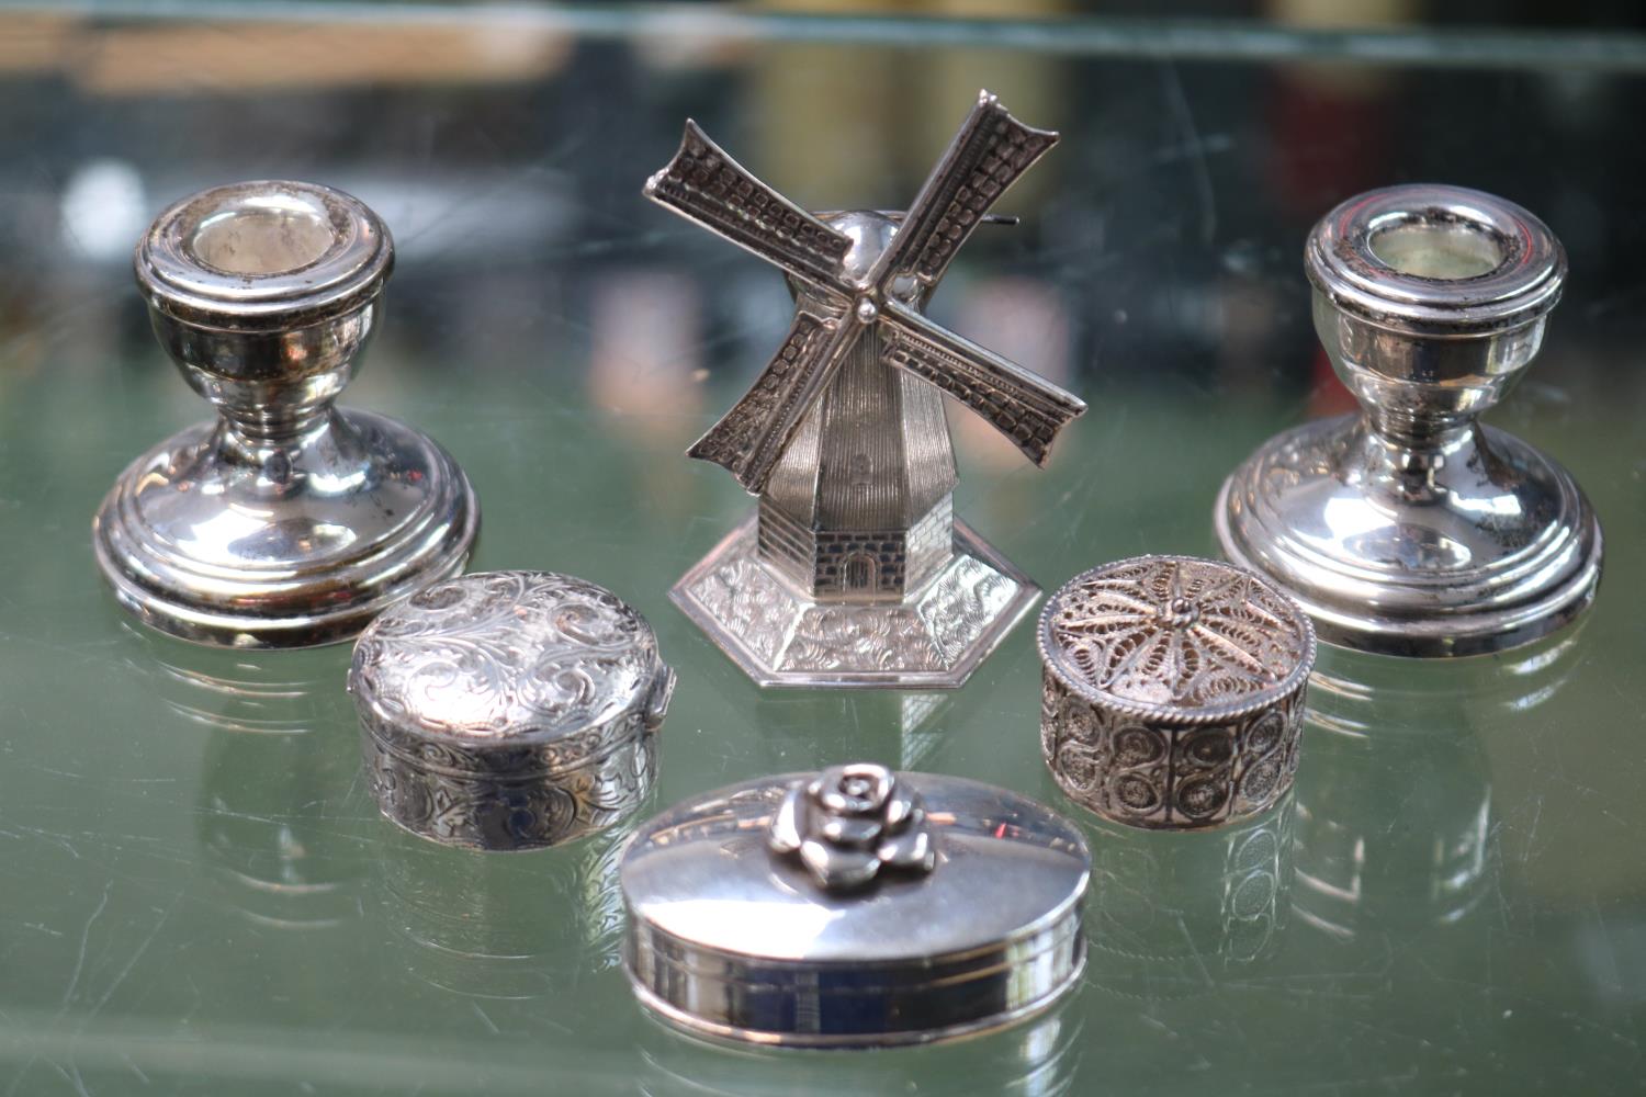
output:
[[[922,314],[1052,145],[984,92],[907,214],[807,214],[686,122],[647,197],[779,266],[795,319],[690,449],[759,510],[673,589],[762,686],[960,686],[1039,589],[955,521],[942,393],[1044,465],[1085,405]]]

